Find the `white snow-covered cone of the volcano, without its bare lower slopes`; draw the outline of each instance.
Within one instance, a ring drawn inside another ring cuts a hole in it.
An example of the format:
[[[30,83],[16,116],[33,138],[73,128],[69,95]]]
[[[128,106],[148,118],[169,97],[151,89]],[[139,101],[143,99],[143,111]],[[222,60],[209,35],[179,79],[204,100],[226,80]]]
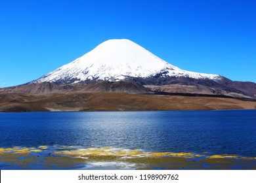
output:
[[[220,75],[184,71],[158,58],[128,39],[111,39],[102,42],[87,54],[59,67],[32,83],[75,83],[90,80],[117,81],[126,78],[186,77],[219,80]]]

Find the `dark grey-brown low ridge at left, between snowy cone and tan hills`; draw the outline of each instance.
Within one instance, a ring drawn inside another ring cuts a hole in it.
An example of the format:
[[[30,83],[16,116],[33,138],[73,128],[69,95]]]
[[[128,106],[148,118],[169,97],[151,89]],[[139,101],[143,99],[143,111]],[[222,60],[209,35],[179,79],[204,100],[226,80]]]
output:
[[[0,88],[0,93],[81,93],[81,92],[116,92],[116,93],[154,93],[139,83],[120,80],[118,82],[98,81],[88,84],[61,84],[40,82],[22,84],[9,88]]]

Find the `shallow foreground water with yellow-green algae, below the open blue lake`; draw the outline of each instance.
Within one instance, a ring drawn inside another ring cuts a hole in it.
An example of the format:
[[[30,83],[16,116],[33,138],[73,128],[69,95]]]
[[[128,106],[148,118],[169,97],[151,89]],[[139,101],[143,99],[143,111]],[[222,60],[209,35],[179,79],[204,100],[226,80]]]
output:
[[[1,169],[256,169],[255,157],[58,145],[0,148],[0,162]]]

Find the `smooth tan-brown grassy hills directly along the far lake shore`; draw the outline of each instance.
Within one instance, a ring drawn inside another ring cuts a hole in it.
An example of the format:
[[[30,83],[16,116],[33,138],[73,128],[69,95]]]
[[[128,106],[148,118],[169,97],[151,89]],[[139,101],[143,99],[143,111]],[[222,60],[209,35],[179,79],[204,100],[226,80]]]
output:
[[[115,92],[1,93],[0,112],[255,109],[255,101]]]

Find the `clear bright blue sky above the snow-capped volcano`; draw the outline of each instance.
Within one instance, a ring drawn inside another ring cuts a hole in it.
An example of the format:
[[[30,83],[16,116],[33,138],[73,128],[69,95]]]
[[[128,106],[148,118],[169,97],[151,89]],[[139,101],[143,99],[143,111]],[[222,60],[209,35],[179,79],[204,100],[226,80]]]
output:
[[[253,0],[0,0],[0,87],[121,38],[181,69],[256,82]]]

